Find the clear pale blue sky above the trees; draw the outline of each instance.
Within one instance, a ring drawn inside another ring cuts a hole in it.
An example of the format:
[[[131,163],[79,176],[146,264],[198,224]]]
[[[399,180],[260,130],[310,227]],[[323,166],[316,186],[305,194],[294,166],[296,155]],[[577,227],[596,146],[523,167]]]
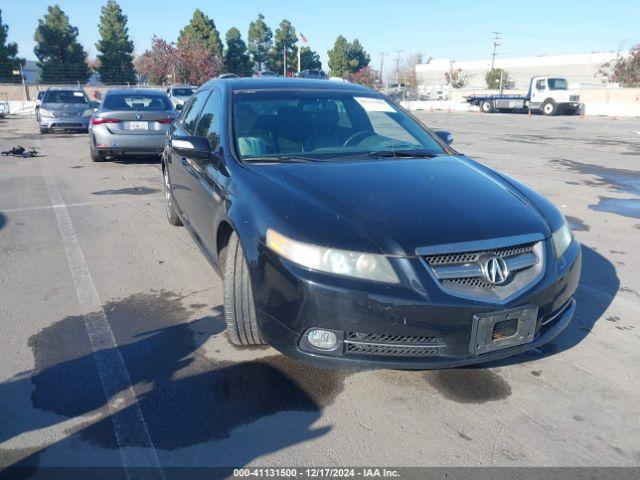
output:
[[[9,41],[19,55],[34,60],[33,33],[46,13],[47,0],[0,0]],[[96,55],[100,8],[106,0],[57,0],[79,29],[89,58]],[[401,57],[481,60],[489,58],[493,32],[501,32],[498,56],[589,53],[627,50],[640,43],[640,1],[536,0],[119,0],[129,18],[136,53],[149,47],[153,35],[175,41],[193,11],[212,17],[221,33],[237,27],[246,41],[249,22],[258,13],[275,31],[283,18],[302,32],[327,68],[327,50],[338,35],[358,38],[371,55],[371,66],[394,68]]]

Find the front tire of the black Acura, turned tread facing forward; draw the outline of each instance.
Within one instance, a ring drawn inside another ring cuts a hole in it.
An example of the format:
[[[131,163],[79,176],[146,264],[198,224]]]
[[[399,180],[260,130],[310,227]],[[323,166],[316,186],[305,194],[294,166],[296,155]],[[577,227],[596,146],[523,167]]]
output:
[[[229,341],[234,345],[264,345],[256,319],[253,287],[244,250],[235,233],[220,255],[224,261],[224,318]]]

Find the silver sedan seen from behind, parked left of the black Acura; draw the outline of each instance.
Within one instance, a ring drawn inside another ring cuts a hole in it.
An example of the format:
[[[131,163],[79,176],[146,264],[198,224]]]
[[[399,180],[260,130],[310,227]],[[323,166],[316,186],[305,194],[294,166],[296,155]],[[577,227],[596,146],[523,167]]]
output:
[[[109,90],[91,117],[91,159],[99,162],[122,156],[160,155],[175,114],[162,91]]]

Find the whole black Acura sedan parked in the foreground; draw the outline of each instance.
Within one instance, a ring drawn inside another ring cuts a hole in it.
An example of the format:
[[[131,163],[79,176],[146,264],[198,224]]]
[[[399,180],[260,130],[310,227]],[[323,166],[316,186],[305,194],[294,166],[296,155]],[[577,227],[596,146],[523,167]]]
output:
[[[213,80],[168,133],[168,220],[224,283],[228,337],[330,368],[444,368],[552,340],[580,245],[527,186],[379,93]]]

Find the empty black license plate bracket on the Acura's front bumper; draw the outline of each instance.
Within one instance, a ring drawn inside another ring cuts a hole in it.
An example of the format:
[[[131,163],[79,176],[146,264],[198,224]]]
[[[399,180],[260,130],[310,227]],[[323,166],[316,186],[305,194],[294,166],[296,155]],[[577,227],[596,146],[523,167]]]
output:
[[[530,343],[535,336],[537,323],[538,307],[535,305],[475,314],[469,350],[474,355],[480,355]]]

